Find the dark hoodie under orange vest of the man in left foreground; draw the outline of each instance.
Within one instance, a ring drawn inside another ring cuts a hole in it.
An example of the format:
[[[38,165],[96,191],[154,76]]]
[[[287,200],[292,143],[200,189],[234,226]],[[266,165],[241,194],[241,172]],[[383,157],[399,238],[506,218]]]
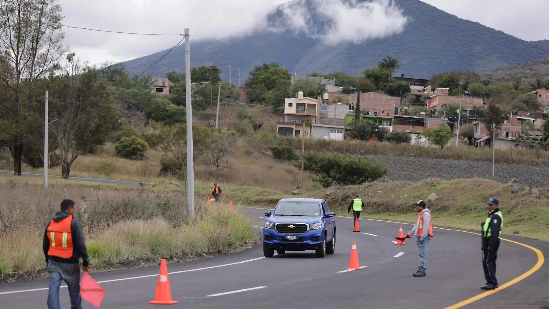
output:
[[[59,211],[53,216],[53,220],[55,222],[59,222],[66,217],[69,217],[70,213],[66,211]],[[72,257],[71,258],[62,258],[58,256],[48,256],[48,250],[49,250],[49,239],[48,239],[48,227],[49,223],[51,223],[51,220],[46,224],[46,229],[44,230],[44,241],[43,241],[43,249],[44,249],[44,256],[46,256],[46,263],[48,263],[48,260],[52,260],[55,262],[61,262],[61,263],[79,263],[79,258],[82,258],[82,266],[86,267],[88,266],[88,250],[86,249],[86,243],[84,242],[84,233],[82,231],[82,224],[78,219],[76,219],[74,216],[72,217],[72,222],[70,226],[70,230],[72,233]]]

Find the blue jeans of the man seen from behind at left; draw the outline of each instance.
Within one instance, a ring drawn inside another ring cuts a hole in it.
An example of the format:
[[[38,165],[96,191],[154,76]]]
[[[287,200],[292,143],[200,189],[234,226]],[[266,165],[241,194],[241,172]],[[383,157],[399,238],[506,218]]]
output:
[[[64,280],[69,289],[71,309],[82,309],[80,296],[80,264],[48,261],[49,291],[48,309],[60,309],[59,286]]]

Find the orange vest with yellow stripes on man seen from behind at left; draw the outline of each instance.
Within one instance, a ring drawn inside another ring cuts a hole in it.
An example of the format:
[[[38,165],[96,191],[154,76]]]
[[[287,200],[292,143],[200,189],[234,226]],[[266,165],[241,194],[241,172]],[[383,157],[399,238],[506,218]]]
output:
[[[65,219],[55,222],[50,221],[47,235],[49,239],[49,256],[60,258],[72,257],[72,233],[71,233],[72,215]]]

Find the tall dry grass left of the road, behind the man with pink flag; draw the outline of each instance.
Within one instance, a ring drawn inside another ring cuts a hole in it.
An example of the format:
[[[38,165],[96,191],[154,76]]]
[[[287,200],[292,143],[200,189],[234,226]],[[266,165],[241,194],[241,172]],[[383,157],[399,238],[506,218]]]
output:
[[[45,274],[43,228],[63,198],[76,201],[92,271],[148,266],[160,258],[192,260],[242,250],[257,240],[251,219],[226,207],[199,204],[189,219],[181,191],[168,197],[147,188],[91,188],[65,181],[46,191],[26,179],[0,178],[0,281]]]

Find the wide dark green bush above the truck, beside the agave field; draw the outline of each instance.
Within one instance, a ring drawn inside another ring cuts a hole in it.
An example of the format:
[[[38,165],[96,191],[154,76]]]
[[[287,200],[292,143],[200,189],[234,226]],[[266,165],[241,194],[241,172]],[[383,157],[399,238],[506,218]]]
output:
[[[295,167],[301,170],[301,162]],[[304,170],[316,175],[315,181],[323,187],[332,185],[360,185],[371,183],[387,173],[385,164],[349,154],[307,152]]]

